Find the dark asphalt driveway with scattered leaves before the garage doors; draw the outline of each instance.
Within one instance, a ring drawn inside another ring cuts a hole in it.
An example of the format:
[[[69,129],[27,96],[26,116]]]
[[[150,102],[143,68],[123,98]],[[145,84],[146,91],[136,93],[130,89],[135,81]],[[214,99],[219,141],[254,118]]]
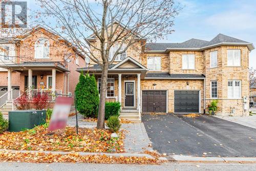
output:
[[[142,115],[153,149],[167,155],[255,157],[256,129],[201,115]]]

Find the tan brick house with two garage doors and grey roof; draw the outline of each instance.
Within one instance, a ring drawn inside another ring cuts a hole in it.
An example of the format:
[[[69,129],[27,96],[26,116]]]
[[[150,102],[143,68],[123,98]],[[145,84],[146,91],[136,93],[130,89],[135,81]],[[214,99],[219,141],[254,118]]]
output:
[[[99,47],[94,35],[89,40]],[[109,69],[106,100],[121,102],[121,118],[140,121],[141,113],[152,112],[205,113],[212,99],[218,99],[218,114],[248,115],[249,101],[243,98],[249,97],[251,43],[218,34],[210,41],[135,46],[139,48],[127,49]],[[114,54],[115,48],[111,51]],[[81,70],[95,74],[100,88],[99,65],[91,62]]]

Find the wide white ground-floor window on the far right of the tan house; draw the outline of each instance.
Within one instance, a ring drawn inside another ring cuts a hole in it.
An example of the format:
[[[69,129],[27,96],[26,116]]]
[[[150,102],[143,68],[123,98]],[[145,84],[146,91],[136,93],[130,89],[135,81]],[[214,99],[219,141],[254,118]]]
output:
[[[229,80],[227,83],[227,97],[236,99],[241,98],[241,81]]]

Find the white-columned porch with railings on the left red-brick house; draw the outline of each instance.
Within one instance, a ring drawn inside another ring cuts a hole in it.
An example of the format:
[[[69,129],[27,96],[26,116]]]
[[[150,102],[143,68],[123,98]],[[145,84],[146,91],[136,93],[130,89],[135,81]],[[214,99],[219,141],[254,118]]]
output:
[[[54,102],[56,93],[66,93],[65,72],[68,70],[56,62],[24,62],[1,67],[8,70],[8,90],[0,97],[0,108],[24,94],[29,100],[44,97]],[[19,90],[12,89],[12,74],[14,72],[20,73]]]

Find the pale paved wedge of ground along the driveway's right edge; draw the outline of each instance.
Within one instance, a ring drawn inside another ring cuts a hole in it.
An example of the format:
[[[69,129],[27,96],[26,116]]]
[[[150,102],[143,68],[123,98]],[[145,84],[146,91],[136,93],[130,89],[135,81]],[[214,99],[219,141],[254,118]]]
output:
[[[256,129],[256,115],[253,115],[253,116],[217,116],[215,115],[215,117]]]

